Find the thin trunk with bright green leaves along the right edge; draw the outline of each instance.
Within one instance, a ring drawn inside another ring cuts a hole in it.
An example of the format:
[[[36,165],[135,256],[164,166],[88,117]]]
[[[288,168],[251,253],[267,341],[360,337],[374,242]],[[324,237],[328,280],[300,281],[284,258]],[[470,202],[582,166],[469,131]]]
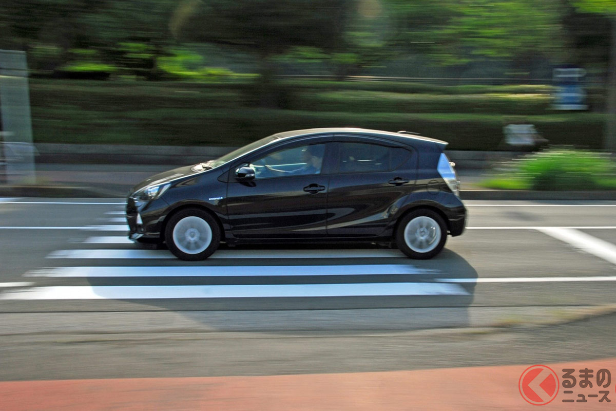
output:
[[[575,0],[578,9],[609,16],[612,24],[610,62],[607,79],[607,120],[605,148],[616,152],[616,0]]]

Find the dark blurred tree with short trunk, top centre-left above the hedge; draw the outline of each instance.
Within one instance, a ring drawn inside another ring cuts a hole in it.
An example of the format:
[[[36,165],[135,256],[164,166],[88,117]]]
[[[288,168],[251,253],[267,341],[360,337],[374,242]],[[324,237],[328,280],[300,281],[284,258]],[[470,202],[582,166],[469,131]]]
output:
[[[177,39],[233,47],[256,57],[262,86],[272,57],[293,47],[334,51],[343,40],[352,0],[186,0],[171,30]]]

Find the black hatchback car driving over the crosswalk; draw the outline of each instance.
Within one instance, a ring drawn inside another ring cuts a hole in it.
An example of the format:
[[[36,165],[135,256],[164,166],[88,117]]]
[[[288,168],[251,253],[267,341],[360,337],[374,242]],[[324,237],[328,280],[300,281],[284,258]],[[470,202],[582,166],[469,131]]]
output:
[[[354,128],[274,134],[136,185],[129,238],[166,242],[185,260],[221,242],[394,242],[432,258],[466,219],[446,145]]]

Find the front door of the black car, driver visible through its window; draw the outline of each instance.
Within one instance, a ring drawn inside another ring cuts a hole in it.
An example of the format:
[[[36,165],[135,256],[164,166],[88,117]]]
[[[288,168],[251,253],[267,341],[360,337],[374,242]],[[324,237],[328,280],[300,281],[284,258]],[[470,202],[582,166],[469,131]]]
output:
[[[316,238],[326,236],[329,176],[323,139],[285,145],[237,166],[254,171],[239,181],[232,169],[227,216],[236,238]]]

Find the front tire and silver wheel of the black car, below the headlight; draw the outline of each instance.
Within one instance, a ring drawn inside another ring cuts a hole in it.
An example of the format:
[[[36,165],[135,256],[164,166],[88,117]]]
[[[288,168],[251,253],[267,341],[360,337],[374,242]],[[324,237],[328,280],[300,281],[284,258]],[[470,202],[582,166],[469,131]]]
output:
[[[207,211],[187,208],[171,216],[164,230],[169,251],[179,259],[198,261],[211,256],[221,243],[221,230]]]

